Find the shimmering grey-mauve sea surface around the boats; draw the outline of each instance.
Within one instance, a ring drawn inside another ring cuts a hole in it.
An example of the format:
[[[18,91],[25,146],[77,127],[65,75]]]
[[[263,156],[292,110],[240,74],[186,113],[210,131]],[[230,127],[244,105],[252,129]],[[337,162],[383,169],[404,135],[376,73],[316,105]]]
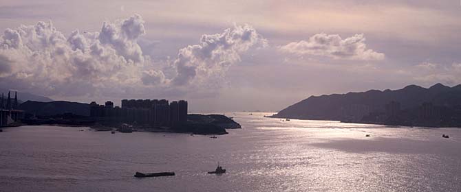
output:
[[[5,129],[0,191],[461,191],[461,129],[226,115],[243,129],[218,139]],[[208,175],[218,161],[228,172]],[[176,176],[134,178],[136,171]]]

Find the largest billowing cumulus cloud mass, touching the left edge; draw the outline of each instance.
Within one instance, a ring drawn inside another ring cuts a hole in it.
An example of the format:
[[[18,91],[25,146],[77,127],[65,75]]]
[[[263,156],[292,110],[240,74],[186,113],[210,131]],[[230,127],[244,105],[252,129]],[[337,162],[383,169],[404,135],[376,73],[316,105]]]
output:
[[[104,23],[100,32],[72,32],[67,38],[49,22],[6,29],[0,36],[0,78],[32,92],[80,93],[106,84],[128,84],[144,65],[137,39],[139,15]]]

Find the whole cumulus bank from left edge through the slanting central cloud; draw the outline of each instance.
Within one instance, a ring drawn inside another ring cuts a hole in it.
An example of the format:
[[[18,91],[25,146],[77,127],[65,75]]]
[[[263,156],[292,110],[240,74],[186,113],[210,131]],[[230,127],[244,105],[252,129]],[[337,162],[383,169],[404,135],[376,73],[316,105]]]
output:
[[[267,44],[250,25],[235,25],[203,35],[177,58],[154,63],[138,44],[144,34],[137,14],[104,22],[98,32],[68,36],[51,21],[6,29],[0,36],[0,86],[60,98],[200,92],[219,84],[244,51]]]

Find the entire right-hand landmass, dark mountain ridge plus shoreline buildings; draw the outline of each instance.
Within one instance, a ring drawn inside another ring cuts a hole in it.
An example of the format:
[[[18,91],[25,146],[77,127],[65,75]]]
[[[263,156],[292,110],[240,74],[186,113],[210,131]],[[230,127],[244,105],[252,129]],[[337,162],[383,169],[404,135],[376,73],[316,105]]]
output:
[[[461,84],[311,96],[271,117],[425,127],[461,127]]]

